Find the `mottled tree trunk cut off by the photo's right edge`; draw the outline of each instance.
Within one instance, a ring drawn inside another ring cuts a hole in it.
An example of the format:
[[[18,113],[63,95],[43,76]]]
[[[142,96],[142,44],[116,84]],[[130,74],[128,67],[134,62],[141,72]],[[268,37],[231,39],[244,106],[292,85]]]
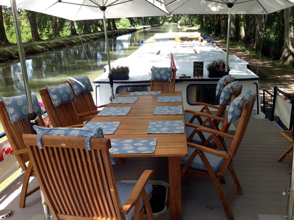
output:
[[[294,66],[294,7],[284,9],[284,22],[285,22],[285,37],[284,37],[284,50],[280,58],[280,62],[286,65]]]

